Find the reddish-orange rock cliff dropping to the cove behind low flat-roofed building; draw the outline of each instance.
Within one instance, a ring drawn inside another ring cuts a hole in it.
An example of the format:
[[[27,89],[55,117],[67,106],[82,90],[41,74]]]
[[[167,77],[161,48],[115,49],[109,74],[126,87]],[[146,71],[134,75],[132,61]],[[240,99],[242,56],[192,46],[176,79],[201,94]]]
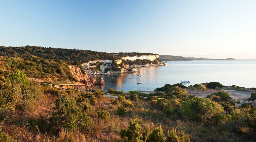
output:
[[[85,85],[89,85],[90,87],[97,84],[97,80],[95,78],[89,77],[87,74],[83,74],[80,70],[80,67],[73,65],[70,65],[68,67],[70,68],[72,76],[79,82],[82,82]],[[101,78],[99,82],[104,82],[103,78]]]

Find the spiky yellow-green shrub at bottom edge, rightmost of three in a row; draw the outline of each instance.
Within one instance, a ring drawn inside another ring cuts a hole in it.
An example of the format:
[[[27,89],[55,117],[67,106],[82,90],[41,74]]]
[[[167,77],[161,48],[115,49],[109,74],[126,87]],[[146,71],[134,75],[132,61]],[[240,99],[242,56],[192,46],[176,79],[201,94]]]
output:
[[[166,142],[189,142],[189,135],[185,135],[184,131],[176,133],[177,128],[173,128],[170,132],[167,133]]]

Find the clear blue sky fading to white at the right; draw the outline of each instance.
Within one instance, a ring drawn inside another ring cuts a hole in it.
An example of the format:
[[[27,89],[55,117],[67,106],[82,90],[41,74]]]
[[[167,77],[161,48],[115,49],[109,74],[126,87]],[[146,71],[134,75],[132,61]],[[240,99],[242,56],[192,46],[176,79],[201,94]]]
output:
[[[256,1],[0,1],[0,46],[256,59]]]

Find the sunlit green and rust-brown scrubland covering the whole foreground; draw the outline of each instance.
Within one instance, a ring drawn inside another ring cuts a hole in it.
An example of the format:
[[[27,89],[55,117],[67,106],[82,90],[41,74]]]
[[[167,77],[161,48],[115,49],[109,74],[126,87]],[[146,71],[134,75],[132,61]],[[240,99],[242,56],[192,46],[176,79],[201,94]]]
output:
[[[192,87],[207,85],[220,87]],[[12,71],[0,75],[0,140],[256,141],[254,107],[235,107],[226,91],[198,98],[187,94],[188,88],[166,84],[146,99],[137,91],[109,89],[106,93],[118,96],[110,98],[102,90],[50,88]]]

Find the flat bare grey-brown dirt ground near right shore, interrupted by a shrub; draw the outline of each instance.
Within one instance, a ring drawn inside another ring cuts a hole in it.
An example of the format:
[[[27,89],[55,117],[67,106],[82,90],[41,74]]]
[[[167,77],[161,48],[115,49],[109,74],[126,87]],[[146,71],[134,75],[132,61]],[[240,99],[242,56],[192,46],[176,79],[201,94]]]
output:
[[[251,97],[251,92],[247,91],[236,91],[236,90],[225,90],[227,91],[231,98],[237,99],[237,100],[247,100],[249,97]],[[202,97],[205,98],[208,94],[218,92],[218,90],[206,90],[206,91],[200,91],[200,90],[187,90],[188,94],[195,95],[196,97]]]

